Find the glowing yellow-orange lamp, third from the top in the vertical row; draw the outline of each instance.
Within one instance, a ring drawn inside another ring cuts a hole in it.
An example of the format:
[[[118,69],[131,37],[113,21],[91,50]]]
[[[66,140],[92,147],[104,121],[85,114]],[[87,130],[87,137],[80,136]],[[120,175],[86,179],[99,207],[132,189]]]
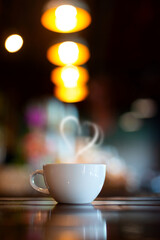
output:
[[[84,85],[88,80],[89,73],[84,67],[57,67],[51,72],[51,81],[58,86],[73,88]]]

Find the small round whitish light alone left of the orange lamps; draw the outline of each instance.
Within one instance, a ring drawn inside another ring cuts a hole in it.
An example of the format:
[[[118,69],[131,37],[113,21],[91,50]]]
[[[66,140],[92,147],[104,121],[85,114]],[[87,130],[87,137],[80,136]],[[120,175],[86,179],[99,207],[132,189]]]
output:
[[[5,48],[8,52],[14,53],[21,49],[23,45],[23,39],[18,34],[10,35],[5,41]]]

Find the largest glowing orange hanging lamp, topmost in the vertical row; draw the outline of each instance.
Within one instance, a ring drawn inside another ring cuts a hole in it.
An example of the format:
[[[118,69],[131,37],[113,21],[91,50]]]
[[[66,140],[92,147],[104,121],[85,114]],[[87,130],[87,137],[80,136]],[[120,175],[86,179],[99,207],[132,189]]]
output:
[[[62,33],[77,32],[90,25],[91,15],[81,7],[75,7],[70,4],[56,6],[50,2],[41,17],[41,23],[51,31]]]

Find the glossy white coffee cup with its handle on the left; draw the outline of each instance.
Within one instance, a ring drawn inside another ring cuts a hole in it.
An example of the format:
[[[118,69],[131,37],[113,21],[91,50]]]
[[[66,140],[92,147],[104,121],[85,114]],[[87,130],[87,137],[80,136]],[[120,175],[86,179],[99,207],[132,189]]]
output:
[[[37,174],[43,175],[47,188],[35,184]],[[53,163],[33,172],[30,184],[35,190],[50,194],[59,203],[87,204],[100,193],[105,175],[105,164]]]

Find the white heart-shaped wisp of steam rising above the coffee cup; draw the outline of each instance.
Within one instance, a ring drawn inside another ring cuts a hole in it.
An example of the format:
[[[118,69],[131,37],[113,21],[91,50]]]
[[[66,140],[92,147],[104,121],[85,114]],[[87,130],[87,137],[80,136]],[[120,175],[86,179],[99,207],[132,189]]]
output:
[[[67,137],[67,135],[65,134],[65,124],[68,122],[68,121],[73,121],[76,125],[77,125],[77,128],[78,128],[78,134],[81,134],[82,132],[82,128],[81,128],[81,125],[80,125],[80,122],[79,120],[74,117],[74,116],[67,116],[65,117],[62,121],[61,121],[61,124],[60,124],[60,132],[61,132],[61,135],[65,141],[65,143],[67,144],[67,146],[72,149],[72,145]],[[92,122],[89,122],[89,121],[85,121],[84,122],[85,125],[88,125],[89,127],[91,127],[93,130],[94,130],[94,135],[92,137],[92,139],[88,142],[88,144],[86,144],[83,148],[80,148],[79,151],[76,153],[75,155],[75,158],[78,158],[79,155],[81,155],[82,153],[84,153],[85,151],[87,151],[89,148],[91,148],[97,141],[98,137],[99,137],[99,128],[98,126],[95,124],[95,123],[92,123]]]

